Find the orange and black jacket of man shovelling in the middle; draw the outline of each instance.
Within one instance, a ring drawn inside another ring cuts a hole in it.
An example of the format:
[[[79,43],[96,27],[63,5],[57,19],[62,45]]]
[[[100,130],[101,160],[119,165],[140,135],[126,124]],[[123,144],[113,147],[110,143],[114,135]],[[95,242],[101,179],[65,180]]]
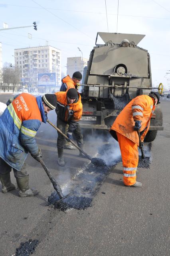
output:
[[[55,109],[57,117],[69,123],[69,131],[74,131],[83,112],[80,94],[78,93],[77,99],[72,104],[67,101],[66,91],[58,91],[55,95],[57,96],[57,107]]]

